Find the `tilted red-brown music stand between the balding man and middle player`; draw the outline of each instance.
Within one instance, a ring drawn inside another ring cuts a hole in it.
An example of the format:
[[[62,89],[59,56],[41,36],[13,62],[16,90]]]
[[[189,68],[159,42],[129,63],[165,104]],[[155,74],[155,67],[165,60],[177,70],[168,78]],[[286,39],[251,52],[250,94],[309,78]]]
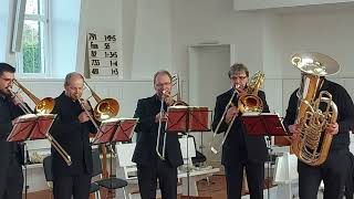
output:
[[[133,137],[134,128],[137,125],[137,118],[111,118],[101,123],[97,136],[92,142],[93,145],[105,144],[111,147],[110,176],[112,177],[112,156],[116,142],[129,142]],[[112,187],[112,178],[111,187]]]

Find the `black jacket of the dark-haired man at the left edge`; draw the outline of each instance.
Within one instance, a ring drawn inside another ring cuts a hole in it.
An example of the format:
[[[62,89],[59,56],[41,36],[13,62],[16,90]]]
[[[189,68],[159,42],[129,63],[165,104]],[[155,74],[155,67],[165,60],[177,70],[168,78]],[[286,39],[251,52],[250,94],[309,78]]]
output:
[[[10,160],[15,159],[23,164],[23,147],[18,143],[7,142],[12,129],[12,119],[23,115],[19,106],[15,106],[9,97],[0,94],[0,178],[7,176]]]

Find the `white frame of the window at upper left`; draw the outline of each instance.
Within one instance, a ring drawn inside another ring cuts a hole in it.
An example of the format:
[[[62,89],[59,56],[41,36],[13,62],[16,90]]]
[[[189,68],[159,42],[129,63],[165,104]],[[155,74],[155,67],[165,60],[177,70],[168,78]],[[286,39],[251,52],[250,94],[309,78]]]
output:
[[[41,21],[44,24],[43,28],[43,56],[41,56],[41,63],[43,63],[42,72],[41,73],[23,73],[23,53],[17,52],[17,74],[20,77],[24,78],[41,78],[41,77],[50,77],[51,76],[51,29],[50,29],[50,0],[42,0],[43,8],[44,8],[44,15],[40,14],[25,14],[24,20],[33,20],[33,21]]]

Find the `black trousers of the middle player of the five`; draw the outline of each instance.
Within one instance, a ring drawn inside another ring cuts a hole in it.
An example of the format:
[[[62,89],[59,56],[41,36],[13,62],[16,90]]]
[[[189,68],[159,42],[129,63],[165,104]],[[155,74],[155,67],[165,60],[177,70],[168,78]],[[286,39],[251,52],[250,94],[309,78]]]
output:
[[[157,179],[163,199],[177,198],[177,168],[157,158],[150,166],[137,165],[137,178],[142,199],[155,199]]]

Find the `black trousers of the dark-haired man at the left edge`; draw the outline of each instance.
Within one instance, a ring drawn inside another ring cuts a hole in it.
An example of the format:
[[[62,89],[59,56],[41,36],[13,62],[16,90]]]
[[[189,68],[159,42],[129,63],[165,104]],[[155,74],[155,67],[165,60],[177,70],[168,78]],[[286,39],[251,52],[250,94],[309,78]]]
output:
[[[17,158],[8,169],[0,169],[0,199],[21,199],[23,188],[22,167]]]

